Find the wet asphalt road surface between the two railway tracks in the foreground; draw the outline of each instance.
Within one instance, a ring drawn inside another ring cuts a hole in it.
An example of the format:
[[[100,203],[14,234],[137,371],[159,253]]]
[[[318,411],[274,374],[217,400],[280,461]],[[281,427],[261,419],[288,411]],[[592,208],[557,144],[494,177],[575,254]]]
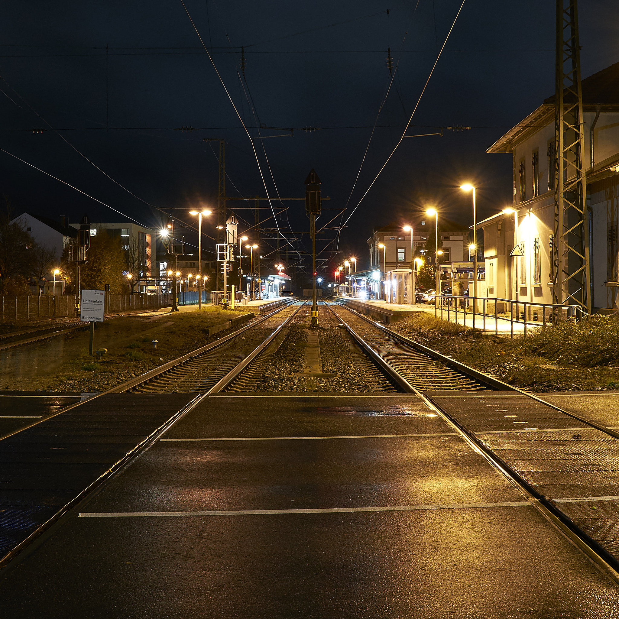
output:
[[[213,397],[162,438],[2,574],[0,617],[619,617],[415,397]]]

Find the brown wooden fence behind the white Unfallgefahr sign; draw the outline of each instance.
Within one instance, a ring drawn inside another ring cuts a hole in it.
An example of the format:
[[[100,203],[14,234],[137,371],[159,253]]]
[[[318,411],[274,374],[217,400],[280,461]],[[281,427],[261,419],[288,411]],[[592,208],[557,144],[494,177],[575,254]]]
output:
[[[171,295],[105,295],[105,313],[133,309],[161,308],[171,305]],[[75,316],[74,295],[39,297],[2,297],[1,322],[20,322],[35,318]]]

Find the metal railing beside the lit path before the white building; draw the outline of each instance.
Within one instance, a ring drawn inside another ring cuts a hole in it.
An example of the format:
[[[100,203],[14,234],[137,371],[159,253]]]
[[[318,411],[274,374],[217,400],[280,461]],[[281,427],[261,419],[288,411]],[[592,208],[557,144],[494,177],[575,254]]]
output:
[[[475,303],[475,301],[477,301]],[[477,305],[473,308],[472,306]],[[479,306],[482,311],[479,312]],[[499,311],[501,306],[501,311]],[[509,307],[509,309],[508,309]],[[466,326],[467,315],[472,316],[472,327],[475,329],[475,316],[477,316],[479,326],[483,331],[487,331],[487,319],[495,321],[495,335],[499,334],[499,321],[510,322],[511,339],[514,339],[514,324],[522,324],[524,337],[527,337],[527,325],[529,327],[545,327],[547,324],[556,324],[561,320],[574,319],[581,320],[587,316],[578,305],[556,304],[556,303],[535,303],[533,301],[520,301],[514,299],[492,298],[492,297],[452,297],[437,295],[435,301],[435,316],[438,316],[438,309],[441,310],[441,320],[444,312],[447,319],[451,321],[451,313],[454,314],[454,321],[458,324],[458,309],[462,317],[462,324]],[[475,311],[473,311],[475,309]]]

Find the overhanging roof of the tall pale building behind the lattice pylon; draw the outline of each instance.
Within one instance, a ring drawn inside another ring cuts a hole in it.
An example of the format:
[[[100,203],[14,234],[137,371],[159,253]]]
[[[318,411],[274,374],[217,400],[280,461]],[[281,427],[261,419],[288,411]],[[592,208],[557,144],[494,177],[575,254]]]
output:
[[[600,106],[601,111],[619,110],[619,63],[611,64],[581,82],[582,109],[594,111]],[[540,124],[547,124],[547,116],[555,114],[555,94],[544,99],[537,110],[516,124],[513,128],[491,145],[487,153],[505,153],[511,151],[514,139]]]

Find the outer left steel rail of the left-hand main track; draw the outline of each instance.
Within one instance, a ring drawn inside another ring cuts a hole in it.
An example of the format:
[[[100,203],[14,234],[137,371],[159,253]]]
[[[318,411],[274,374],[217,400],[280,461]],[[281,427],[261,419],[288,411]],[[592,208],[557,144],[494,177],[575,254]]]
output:
[[[247,331],[248,329],[252,329],[253,327],[258,326],[259,324],[261,324],[262,322],[266,321],[267,319],[271,318],[271,316],[274,316],[275,314],[279,313],[280,311],[282,311],[283,309],[289,307],[290,305],[292,305],[292,303],[295,302],[295,298],[292,297],[290,300],[290,303],[286,303],[285,305],[280,306],[279,308],[274,309],[274,311],[269,312],[268,314],[265,314],[264,316],[261,316],[261,318],[259,318],[258,320],[252,322],[251,324],[247,324],[245,327],[241,327],[240,329],[237,329],[236,331],[234,331],[233,333],[230,333],[228,335],[225,335],[224,337],[221,337],[220,339],[216,340],[215,342],[211,342],[210,344],[206,344],[200,348],[196,348],[196,350],[192,350],[189,353],[186,353],[186,355],[183,355],[182,357],[178,357],[172,361],[168,361],[167,363],[163,363],[163,365],[159,365],[156,368],[153,368],[152,370],[149,370],[147,372],[145,372],[144,374],[140,374],[139,376],[135,376],[132,379],[129,379],[128,381],[125,381],[124,383],[121,383],[119,385],[116,385],[115,387],[110,387],[110,389],[106,389],[105,391],[101,391],[99,393],[94,394],[93,396],[87,397],[84,400],[80,400],[80,402],[74,402],[74,404],[69,404],[66,407],[63,407],[62,409],[56,410],[53,413],[50,413],[49,415],[46,415],[45,417],[41,417],[40,419],[38,419],[36,422],[30,423],[27,426],[24,426],[23,428],[20,428],[19,430],[15,430],[14,432],[10,432],[6,435],[2,435],[0,436],[0,441],[3,441],[6,438],[10,438],[11,436],[15,436],[16,434],[19,434],[20,432],[24,431],[24,430],[28,430],[28,428],[32,428],[33,426],[39,425],[40,423],[43,423],[53,417],[56,417],[58,415],[61,415],[62,413],[67,412],[68,410],[71,409],[75,409],[78,406],[81,406],[82,404],[84,404],[85,402],[92,402],[92,400],[101,397],[101,396],[107,396],[109,394],[114,394],[114,393],[123,393],[125,391],[129,391],[129,389],[132,389],[133,387],[136,387],[139,384],[142,383],[147,383],[148,381],[150,381],[153,378],[157,378],[158,376],[161,376],[162,374],[165,374],[167,371],[170,371],[171,369],[182,365],[183,363],[185,363],[186,361],[197,357],[198,355],[201,355],[205,352],[208,352],[209,350],[211,350],[212,348],[216,348],[222,344],[225,344],[225,342],[228,342],[228,340],[231,340],[235,337],[238,337],[238,335],[243,334],[243,332]]]

